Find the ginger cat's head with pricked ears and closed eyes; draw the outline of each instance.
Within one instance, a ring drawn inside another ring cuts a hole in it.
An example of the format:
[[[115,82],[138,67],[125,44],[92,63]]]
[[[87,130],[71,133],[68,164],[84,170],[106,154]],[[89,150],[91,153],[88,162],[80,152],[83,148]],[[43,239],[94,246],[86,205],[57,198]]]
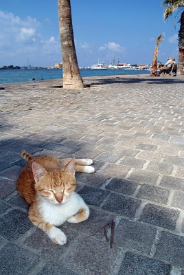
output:
[[[75,161],[64,168],[47,172],[43,166],[32,163],[36,193],[50,203],[65,203],[76,188]]]

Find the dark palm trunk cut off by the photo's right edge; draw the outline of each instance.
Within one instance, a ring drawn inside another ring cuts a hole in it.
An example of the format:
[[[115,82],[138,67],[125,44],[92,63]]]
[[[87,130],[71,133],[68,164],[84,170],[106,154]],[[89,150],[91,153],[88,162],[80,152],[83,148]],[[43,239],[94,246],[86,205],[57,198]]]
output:
[[[183,74],[183,61],[184,61],[184,12],[181,14],[180,30],[179,30],[179,74]]]

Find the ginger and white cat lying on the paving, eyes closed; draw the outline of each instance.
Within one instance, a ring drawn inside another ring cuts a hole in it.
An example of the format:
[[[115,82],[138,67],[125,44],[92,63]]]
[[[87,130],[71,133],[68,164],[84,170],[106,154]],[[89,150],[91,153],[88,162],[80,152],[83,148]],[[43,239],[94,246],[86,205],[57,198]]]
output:
[[[21,156],[27,164],[21,171],[16,188],[30,204],[28,217],[49,238],[59,245],[67,242],[64,232],[55,225],[80,223],[89,217],[89,208],[74,192],[76,172],[94,173],[92,159],[58,159],[34,157],[25,151]]]

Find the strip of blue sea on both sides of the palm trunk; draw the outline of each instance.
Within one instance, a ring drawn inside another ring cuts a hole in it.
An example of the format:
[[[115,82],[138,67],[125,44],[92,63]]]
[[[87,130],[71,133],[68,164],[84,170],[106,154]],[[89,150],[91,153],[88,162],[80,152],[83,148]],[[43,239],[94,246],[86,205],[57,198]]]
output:
[[[82,77],[150,74],[150,71],[126,69],[80,69]],[[62,78],[62,69],[0,69],[0,84],[23,83]]]

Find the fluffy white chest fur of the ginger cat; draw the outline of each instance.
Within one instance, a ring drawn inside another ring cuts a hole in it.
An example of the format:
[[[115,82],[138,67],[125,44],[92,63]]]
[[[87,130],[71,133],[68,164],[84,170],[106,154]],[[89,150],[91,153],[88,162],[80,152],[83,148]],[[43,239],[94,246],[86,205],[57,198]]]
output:
[[[52,204],[42,199],[38,208],[45,221],[53,225],[61,225],[69,217],[76,214],[82,205],[84,205],[83,199],[73,192],[65,203]]]

